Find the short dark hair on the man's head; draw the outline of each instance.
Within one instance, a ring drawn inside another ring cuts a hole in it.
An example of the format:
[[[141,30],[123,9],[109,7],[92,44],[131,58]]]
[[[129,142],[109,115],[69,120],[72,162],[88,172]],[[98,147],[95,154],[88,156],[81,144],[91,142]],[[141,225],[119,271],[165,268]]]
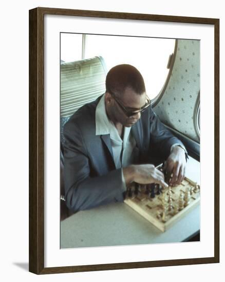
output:
[[[145,92],[144,79],[141,73],[133,66],[123,64],[109,70],[106,75],[106,92],[121,95],[127,87],[137,94]]]

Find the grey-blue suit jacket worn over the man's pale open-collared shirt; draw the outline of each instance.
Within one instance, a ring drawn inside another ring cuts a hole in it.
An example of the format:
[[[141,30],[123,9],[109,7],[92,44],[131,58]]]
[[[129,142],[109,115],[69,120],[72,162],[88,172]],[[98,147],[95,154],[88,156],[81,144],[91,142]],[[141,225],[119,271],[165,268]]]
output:
[[[96,135],[95,112],[100,98],[81,107],[64,126],[64,186],[66,205],[72,211],[124,199],[121,169],[115,167],[109,134]],[[173,144],[182,145],[151,107],[141,114],[131,133],[137,143],[135,163],[153,163],[152,152],[166,159]]]

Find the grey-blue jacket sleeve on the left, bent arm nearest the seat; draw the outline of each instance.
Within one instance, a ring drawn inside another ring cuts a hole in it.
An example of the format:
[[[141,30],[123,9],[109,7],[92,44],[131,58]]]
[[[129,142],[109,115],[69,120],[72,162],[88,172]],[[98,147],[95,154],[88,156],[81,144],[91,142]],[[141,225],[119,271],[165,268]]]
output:
[[[74,123],[64,126],[64,185],[66,205],[72,211],[123,202],[121,169],[90,176],[90,159],[81,130]]]

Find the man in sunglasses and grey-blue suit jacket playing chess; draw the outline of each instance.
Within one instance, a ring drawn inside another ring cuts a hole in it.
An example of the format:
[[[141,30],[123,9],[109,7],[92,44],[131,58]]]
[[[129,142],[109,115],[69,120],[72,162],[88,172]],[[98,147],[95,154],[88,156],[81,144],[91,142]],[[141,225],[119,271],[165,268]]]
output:
[[[106,92],[81,107],[64,127],[66,205],[72,211],[122,202],[127,186],[158,183],[164,175],[151,153],[166,160],[170,185],[185,174],[186,152],[153,112],[140,72],[118,65],[106,76]]]

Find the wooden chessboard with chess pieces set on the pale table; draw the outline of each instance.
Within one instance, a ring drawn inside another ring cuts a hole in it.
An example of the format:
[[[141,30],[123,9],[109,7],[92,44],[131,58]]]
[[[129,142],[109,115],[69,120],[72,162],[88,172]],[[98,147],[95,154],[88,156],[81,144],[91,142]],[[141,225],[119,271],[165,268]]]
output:
[[[200,186],[185,177],[180,185],[160,190],[151,198],[146,186],[139,185],[138,192],[127,195],[124,203],[164,232],[199,204]]]

